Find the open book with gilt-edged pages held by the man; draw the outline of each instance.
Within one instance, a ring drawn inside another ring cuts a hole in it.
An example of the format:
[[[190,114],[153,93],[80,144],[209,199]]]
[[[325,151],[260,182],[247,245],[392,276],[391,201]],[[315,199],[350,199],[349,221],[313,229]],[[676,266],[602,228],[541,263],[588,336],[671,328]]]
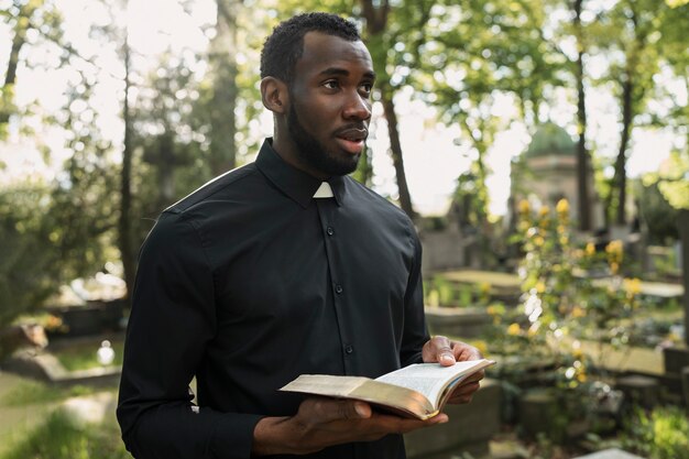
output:
[[[361,400],[397,415],[428,419],[440,413],[457,384],[493,363],[485,359],[457,362],[452,367],[416,363],[375,380],[302,374],[281,391]]]

